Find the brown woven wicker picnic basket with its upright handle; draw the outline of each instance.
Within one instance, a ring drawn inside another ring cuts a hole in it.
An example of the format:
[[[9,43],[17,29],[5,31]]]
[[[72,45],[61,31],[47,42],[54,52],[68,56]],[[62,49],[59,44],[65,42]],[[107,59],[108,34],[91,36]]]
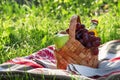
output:
[[[69,25],[69,40],[60,49],[55,49],[57,68],[66,69],[68,64],[80,64],[96,68],[98,65],[98,55],[93,55],[91,49],[85,48],[75,39],[76,24],[80,22],[80,17],[72,16]],[[81,22],[80,22],[81,23]]]

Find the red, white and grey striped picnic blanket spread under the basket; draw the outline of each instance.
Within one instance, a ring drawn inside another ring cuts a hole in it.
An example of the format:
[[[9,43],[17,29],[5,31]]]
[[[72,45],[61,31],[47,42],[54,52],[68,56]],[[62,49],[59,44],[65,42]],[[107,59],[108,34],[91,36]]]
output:
[[[51,45],[31,55],[17,57],[1,64],[0,79],[9,80],[16,76],[21,78],[25,77],[25,74],[29,80],[120,79],[120,40],[109,41],[100,46],[98,68],[69,64],[67,70],[57,69],[54,49],[54,45]]]

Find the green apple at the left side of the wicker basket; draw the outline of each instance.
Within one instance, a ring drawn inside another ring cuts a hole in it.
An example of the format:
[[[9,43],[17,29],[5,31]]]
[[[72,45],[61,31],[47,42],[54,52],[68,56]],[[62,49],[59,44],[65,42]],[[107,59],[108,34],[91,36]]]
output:
[[[55,35],[55,37],[54,37],[55,47],[56,47],[57,49],[62,48],[62,46],[65,45],[65,43],[68,41],[68,39],[69,39],[69,35],[68,35],[68,34],[58,33],[58,34]]]

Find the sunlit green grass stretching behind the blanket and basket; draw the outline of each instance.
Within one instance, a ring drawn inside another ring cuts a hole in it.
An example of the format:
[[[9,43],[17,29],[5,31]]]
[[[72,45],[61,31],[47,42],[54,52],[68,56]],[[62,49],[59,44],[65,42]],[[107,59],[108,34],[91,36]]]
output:
[[[117,0],[41,0],[37,6],[34,3],[19,5],[14,0],[1,0],[0,63],[54,44],[53,36],[68,28],[74,14],[80,15],[86,28],[89,28],[91,19],[98,19],[97,31],[102,44],[120,39],[119,7]]]

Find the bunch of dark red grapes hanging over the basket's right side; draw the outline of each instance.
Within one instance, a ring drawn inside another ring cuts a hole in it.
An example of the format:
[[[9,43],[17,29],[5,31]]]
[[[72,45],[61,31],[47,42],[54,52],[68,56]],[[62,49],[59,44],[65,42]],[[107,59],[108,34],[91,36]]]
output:
[[[69,34],[69,29],[66,30]],[[94,31],[89,31],[84,24],[79,22],[76,24],[75,38],[86,48],[91,49],[94,55],[98,54],[98,46],[100,45],[100,38],[96,37]]]

